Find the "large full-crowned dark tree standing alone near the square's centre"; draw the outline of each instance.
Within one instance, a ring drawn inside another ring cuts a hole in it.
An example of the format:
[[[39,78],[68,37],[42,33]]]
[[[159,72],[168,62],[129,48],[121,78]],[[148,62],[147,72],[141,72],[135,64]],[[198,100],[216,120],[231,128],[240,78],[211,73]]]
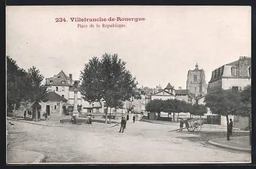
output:
[[[93,57],[89,60],[81,71],[80,80],[84,100],[105,101],[105,123],[107,123],[108,108],[115,105],[115,102],[130,100],[137,85],[136,79],[126,69],[125,62],[118,59],[117,54],[107,53],[102,55],[101,59]]]

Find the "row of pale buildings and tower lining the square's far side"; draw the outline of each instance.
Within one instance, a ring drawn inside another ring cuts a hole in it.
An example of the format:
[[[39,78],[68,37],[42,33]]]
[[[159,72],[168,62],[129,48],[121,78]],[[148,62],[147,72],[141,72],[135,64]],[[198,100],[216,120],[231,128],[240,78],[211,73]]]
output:
[[[123,108],[109,108],[109,114],[125,114],[127,108],[134,107],[134,111],[143,112],[148,102],[154,99],[177,99],[190,104],[204,104],[204,97],[209,92],[220,89],[239,90],[251,83],[251,60],[250,58],[240,57],[239,60],[225,64],[212,71],[209,84],[205,82],[203,69],[198,68],[188,70],[186,89],[178,87],[175,89],[170,83],[165,88],[160,85],[156,88],[141,87],[136,88],[140,98],[132,98],[131,101],[123,103]],[[41,111],[48,114],[58,113],[68,115],[74,109],[74,80],[72,74],[67,76],[62,70],[51,78],[46,78],[47,94],[45,102],[41,103]],[[105,103],[89,103],[77,92],[77,108],[81,113],[105,114]],[[208,112],[210,114],[210,112]]]

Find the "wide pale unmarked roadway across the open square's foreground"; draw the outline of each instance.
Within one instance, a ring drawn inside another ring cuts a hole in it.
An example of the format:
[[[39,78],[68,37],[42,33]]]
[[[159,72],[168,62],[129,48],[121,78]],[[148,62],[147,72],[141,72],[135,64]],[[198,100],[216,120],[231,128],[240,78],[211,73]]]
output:
[[[119,126],[93,123],[76,128],[46,127],[8,120],[8,148],[46,154],[49,162],[250,162],[249,153],[239,153],[190,141],[199,137],[187,132],[168,132],[175,125],[146,122]],[[181,138],[182,137],[182,138]]]

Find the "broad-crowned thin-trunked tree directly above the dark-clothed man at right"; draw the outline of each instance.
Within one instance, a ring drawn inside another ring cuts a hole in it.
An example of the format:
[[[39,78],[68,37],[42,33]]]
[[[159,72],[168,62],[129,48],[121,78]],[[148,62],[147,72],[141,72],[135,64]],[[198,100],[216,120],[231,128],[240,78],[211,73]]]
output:
[[[205,106],[209,107],[212,113],[226,116],[227,140],[229,140],[228,115],[239,114],[241,97],[238,92],[232,90],[220,90],[205,96]]]

